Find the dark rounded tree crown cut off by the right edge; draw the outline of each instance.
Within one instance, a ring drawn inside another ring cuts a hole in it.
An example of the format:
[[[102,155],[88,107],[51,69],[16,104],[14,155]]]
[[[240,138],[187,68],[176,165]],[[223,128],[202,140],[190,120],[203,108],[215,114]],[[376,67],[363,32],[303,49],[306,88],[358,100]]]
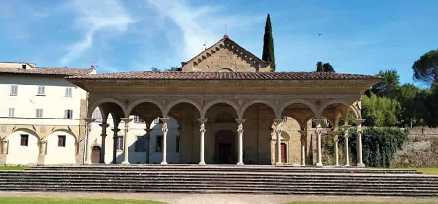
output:
[[[420,57],[412,65],[414,79],[429,85],[438,83],[438,49],[431,50]]]

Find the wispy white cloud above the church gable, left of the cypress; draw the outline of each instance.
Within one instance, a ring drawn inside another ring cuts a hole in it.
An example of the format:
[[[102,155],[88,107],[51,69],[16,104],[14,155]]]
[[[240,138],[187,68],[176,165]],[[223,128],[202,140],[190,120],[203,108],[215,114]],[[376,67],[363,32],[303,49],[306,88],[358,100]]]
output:
[[[189,59],[203,51],[205,41],[207,46],[216,43],[225,33],[225,24],[232,24],[235,28],[234,32],[238,32],[240,27],[263,21],[265,18],[265,14],[227,15],[220,7],[192,6],[184,0],[147,0],[147,2],[153,5],[158,15],[161,15],[157,17],[157,24],[160,27],[170,27],[161,25],[165,22],[162,19],[164,16],[170,18],[181,30],[184,49],[181,50],[181,45],[174,46],[183,59]],[[173,37],[175,35],[170,36]]]

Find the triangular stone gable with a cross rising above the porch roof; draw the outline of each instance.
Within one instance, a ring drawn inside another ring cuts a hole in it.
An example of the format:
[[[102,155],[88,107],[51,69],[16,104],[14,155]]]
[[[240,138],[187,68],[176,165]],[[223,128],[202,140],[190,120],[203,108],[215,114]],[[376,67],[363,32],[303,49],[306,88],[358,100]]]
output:
[[[271,65],[245,50],[228,36],[182,63],[182,71],[266,72]]]

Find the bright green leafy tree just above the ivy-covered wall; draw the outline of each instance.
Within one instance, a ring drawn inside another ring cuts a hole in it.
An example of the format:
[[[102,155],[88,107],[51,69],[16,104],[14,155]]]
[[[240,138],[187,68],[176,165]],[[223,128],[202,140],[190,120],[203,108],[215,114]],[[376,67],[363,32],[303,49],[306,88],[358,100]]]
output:
[[[396,126],[400,114],[400,102],[396,99],[378,97],[373,93],[362,97],[362,117],[366,126]]]

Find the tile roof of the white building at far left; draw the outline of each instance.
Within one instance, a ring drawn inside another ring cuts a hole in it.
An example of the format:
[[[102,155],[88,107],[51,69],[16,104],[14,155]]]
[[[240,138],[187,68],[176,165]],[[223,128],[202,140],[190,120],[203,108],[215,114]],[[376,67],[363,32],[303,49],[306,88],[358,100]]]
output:
[[[0,68],[0,73],[10,74],[45,74],[45,75],[61,75],[61,76],[74,76],[85,75],[91,73],[92,69],[86,68]]]

